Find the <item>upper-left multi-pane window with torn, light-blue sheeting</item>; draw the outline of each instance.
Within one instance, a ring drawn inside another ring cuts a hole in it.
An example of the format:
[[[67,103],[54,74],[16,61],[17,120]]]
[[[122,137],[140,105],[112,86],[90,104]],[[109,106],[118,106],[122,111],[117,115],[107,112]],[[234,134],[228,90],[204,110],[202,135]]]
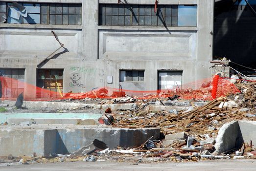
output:
[[[81,25],[82,4],[0,2],[0,23]]]

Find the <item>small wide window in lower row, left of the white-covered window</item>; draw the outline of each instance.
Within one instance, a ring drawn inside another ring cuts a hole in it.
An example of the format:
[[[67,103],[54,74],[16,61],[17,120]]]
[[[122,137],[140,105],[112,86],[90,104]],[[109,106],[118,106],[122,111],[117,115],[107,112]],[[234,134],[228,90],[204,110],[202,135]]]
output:
[[[120,70],[120,82],[132,81],[132,82],[143,82],[144,71],[143,70]]]

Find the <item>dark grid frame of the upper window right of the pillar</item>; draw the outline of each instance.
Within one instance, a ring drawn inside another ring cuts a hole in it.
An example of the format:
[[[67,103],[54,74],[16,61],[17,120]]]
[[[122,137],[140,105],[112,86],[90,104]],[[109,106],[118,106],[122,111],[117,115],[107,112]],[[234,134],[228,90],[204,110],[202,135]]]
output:
[[[117,6],[118,8],[118,12],[117,14],[113,15],[113,6]],[[123,15],[119,15],[119,8],[122,8],[121,6],[123,6],[124,9],[124,25],[123,24],[119,24],[119,16],[123,16]],[[179,26],[179,6],[184,6],[182,4],[161,4],[158,5],[157,8],[157,12],[154,12],[154,7],[155,5],[152,4],[114,4],[114,3],[99,3],[98,6],[98,16],[99,16],[99,20],[98,20],[98,26],[158,26],[158,27],[183,27],[183,26]],[[196,10],[198,11],[198,5],[197,4],[191,4],[191,5],[186,5],[186,6],[196,6]],[[111,14],[107,14],[107,7],[111,8]],[[136,12],[134,12],[134,8],[137,9],[138,7],[138,14],[137,14],[137,10]],[[126,14],[126,9],[127,8],[131,8],[131,13],[129,15]],[[149,13],[146,13],[146,9],[151,9],[150,15]],[[170,8],[171,9],[171,13],[166,15],[166,8]],[[143,12],[141,13],[140,10],[143,9]],[[104,13],[104,12],[105,13]],[[175,12],[175,13],[174,13]],[[160,15],[163,14],[162,16]],[[113,16],[117,16],[117,24],[113,24]],[[126,20],[127,16],[130,16],[130,20]],[[196,18],[197,18],[197,14],[196,14]],[[169,18],[169,23],[166,23],[166,17]],[[142,18],[144,20],[142,20]],[[146,20],[149,20],[150,18],[150,24],[149,22]],[[134,22],[134,20],[138,20],[138,22]],[[109,22],[107,22],[107,20],[110,20]],[[126,24],[126,22],[130,22],[129,24]],[[143,23],[141,22],[143,21]],[[198,21],[196,20],[196,25],[188,25],[186,27],[197,27]]]

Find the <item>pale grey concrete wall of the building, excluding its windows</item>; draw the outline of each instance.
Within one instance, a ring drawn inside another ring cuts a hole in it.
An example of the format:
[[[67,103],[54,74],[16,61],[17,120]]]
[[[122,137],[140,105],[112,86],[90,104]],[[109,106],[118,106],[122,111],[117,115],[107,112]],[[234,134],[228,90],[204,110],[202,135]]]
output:
[[[14,0],[17,1],[17,0]],[[24,68],[25,83],[37,84],[37,69],[64,69],[63,91],[119,86],[119,70],[144,70],[143,82],[120,82],[123,89],[158,89],[158,71],[182,71],[182,84],[209,78],[212,60],[213,0],[160,0],[159,4],[196,4],[197,26],[99,26],[98,4],[117,0],[18,0],[82,3],[82,25],[0,24],[0,68]],[[152,0],[121,0],[154,4]],[[55,59],[37,67],[59,47]],[[68,50],[68,51],[67,51]],[[78,73],[81,86],[70,86]],[[107,82],[107,77],[113,83]],[[25,94],[34,91],[25,88]]]

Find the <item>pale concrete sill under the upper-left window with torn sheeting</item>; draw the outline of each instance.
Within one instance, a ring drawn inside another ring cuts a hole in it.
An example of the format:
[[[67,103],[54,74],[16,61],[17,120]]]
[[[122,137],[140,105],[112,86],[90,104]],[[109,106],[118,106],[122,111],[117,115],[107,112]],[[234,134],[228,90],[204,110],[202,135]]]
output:
[[[48,29],[82,29],[82,25],[50,25],[50,24],[0,24],[0,28],[48,28]]]

